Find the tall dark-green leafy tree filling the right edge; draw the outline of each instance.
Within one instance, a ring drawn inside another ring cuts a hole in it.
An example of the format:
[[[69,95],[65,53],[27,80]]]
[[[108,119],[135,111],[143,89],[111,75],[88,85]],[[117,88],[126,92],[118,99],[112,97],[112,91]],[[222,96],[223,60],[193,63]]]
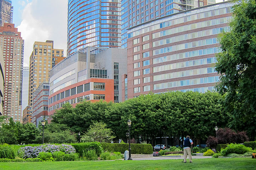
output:
[[[255,139],[256,119],[256,2],[233,6],[231,31],[220,38],[215,69],[220,73],[217,90],[225,94],[226,112],[231,112],[232,129],[247,130]]]

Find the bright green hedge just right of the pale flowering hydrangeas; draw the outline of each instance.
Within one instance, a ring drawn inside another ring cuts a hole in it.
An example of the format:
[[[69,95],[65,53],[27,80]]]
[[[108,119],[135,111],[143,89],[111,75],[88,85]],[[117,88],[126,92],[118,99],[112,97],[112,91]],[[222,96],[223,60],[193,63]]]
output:
[[[70,143],[71,146],[73,146],[76,149],[76,153],[82,156],[83,151],[89,151],[92,149],[95,149],[96,154],[100,156],[102,152],[101,144],[98,142],[82,142],[82,143]]]

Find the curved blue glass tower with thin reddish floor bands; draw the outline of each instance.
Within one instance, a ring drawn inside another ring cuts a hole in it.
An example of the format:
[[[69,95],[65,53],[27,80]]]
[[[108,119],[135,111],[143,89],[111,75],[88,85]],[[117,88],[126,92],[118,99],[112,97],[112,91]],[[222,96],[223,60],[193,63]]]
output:
[[[120,0],[69,0],[67,42],[67,55],[86,46],[121,47]]]

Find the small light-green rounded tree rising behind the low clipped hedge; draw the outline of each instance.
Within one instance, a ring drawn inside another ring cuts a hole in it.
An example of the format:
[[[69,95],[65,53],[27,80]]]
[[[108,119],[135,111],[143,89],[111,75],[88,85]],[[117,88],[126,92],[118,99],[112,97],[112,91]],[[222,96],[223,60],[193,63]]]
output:
[[[112,136],[112,130],[106,128],[106,124],[96,122],[90,126],[85,135],[81,136],[82,142],[111,142],[115,136]]]

